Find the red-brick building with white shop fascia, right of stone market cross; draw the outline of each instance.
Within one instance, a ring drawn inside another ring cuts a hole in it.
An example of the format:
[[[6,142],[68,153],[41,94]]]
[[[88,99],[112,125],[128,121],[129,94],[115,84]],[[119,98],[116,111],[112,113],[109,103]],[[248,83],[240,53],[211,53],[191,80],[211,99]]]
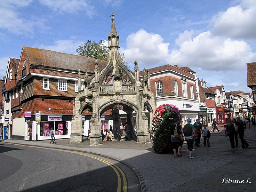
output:
[[[187,67],[179,68],[178,65],[164,65],[148,70],[157,106],[173,104],[180,109],[184,123],[187,118],[191,118],[192,123],[195,123],[198,118],[199,100],[196,94],[197,79],[194,74],[188,72],[192,70]],[[140,71],[140,77],[143,77],[143,71]]]

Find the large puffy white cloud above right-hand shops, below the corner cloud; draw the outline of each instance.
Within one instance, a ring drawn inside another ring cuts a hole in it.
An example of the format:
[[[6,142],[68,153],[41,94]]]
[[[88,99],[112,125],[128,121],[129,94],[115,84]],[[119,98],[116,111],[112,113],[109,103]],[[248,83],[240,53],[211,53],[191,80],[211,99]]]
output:
[[[227,71],[245,67],[248,61],[255,59],[256,54],[245,41],[212,36],[210,31],[195,38],[192,35],[185,31],[176,40],[179,49],[172,51],[169,64]]]

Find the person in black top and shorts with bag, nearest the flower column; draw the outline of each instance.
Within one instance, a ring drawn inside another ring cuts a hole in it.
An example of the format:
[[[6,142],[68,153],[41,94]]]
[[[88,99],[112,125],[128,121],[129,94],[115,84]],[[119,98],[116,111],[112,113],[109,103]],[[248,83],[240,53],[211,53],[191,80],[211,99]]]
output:
[[[174,157],[181,157],[182,155],[180,154],[180,150],[183,145],[183,134],[181,134],[181,127],[178,124],[178,119],[173,119],[172,120],[173,124],[171,125],[171,143],[173,147],[173,153]]]

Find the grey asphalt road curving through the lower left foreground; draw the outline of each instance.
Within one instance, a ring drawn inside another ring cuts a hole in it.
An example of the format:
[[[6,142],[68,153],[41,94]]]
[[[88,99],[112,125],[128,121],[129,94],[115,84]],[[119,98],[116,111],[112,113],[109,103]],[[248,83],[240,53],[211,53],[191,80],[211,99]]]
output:
[[[133,182],[138,182],[130,168],[101,156],[8,143],[0,146],[2,192],[69,192],[78,189],[126,192],[125,173],[133,176]],[[136,189],[140,190],[139,187]]]

